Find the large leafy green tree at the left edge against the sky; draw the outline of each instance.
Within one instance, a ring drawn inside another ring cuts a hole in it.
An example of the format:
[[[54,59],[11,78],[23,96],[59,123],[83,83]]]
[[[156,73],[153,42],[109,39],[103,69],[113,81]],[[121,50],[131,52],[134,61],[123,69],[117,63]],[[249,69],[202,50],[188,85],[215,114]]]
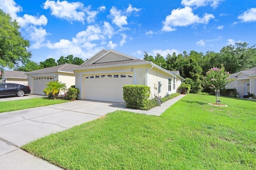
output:
[[[16,20],[0,10],[0,67],[14,68],[31,57],[29,41],[21,37]]]

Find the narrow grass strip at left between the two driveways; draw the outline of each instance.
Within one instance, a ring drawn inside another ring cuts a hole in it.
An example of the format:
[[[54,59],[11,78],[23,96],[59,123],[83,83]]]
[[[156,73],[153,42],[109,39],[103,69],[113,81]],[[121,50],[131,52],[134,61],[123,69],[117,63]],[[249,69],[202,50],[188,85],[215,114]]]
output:
[[[7,111],[15,111],[22,109],[29,109],[40,106],[48,106],[52,104],[60,104],[70,102],[70,100],[48,100],[46,98],[31,98],[22,100],[12,100],[0,102],[0,113]]]

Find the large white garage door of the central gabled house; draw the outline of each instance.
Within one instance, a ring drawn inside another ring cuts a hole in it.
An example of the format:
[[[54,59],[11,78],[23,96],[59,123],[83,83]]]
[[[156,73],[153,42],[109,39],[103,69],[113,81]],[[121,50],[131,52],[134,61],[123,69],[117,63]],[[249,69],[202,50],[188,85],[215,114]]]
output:
[[[84,99],[124,102],[123,86],[134,83],[133,74],[90,74],[83,77]]]

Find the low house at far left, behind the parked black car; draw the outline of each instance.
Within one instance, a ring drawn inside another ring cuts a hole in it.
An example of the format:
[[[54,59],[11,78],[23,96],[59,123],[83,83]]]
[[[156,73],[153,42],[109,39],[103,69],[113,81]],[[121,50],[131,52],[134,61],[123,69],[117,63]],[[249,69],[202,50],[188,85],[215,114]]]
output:
[[[28,76],[24,71],[4,70],[2,80],[5,83],[16,83],[28,86]]]

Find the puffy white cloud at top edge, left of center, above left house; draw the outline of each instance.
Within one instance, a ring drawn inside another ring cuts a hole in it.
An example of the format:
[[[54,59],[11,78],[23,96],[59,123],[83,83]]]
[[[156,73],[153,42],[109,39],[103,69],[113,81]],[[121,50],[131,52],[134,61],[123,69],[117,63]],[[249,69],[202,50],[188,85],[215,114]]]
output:
[[[81,2],[68,2],[66,0],[57,2],[46,0],[43,4],[45,10],[50,9],[51,15],[63,18],[68,21],[81,21],[84,23],[85,13],[82,10],[84,5]]]

